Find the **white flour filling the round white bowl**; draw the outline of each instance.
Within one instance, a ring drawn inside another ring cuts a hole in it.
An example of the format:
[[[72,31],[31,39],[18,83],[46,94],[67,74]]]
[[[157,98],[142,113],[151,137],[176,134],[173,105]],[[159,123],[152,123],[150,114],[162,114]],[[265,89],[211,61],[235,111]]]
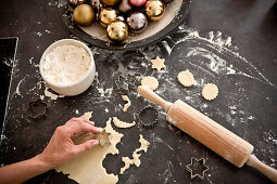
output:
[[[67,44],[53,49],[46,56],[42,69],[49,82],[66,86],[81,80],[90,64],[90,55],[84,48]]]

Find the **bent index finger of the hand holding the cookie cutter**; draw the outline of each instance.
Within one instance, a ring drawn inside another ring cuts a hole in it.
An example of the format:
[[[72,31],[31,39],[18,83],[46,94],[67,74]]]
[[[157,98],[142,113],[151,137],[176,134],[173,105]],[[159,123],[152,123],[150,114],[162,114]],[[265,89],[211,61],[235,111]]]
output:
[[[100,133],[101,130],[96,128],[93,124],[84,121],[83,119],[75,119],[68,124],[65,124],[65,131],[67,132],[68,137],[72,137],[74,133],[80,131],[88,131],[91,133]]]

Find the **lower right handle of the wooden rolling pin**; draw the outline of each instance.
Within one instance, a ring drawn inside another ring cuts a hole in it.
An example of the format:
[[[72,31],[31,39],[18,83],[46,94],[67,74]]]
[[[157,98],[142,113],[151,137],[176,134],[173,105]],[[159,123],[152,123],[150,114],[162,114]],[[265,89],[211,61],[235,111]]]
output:
[[[262,161],[260,161],[254,155],[251,155],[248,162],[248,166],[255,168],[263,174],[265,174],[268,179],[270,179],[274,183],[277,183],[277,170],[266,166]]]

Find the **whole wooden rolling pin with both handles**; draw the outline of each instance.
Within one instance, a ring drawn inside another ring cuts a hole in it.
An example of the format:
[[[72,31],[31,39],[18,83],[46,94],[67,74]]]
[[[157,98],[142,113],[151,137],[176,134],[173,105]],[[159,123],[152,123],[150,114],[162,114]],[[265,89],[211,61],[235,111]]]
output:
[[[138,93],[144,98],[160,105],[167,113],[167,121],[198,140],[232,165],[241,168],[247,163],[277,183],[277,170],[266,166],[254,155],[251,155],[254,147],[247,141],[180,100],[176,101],[174,104],[164,101],[148,87],[143,86],[138,87]]]

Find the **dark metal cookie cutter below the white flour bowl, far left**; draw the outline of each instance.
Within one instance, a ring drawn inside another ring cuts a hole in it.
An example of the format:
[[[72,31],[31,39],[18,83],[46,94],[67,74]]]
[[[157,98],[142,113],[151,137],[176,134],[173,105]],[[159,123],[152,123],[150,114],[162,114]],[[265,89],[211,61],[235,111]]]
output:
[[[34,102],[29,102],[27,107],[27,114],[30,118],[38,119],[46,115],[47,108],[47,103],[38,98]]]

